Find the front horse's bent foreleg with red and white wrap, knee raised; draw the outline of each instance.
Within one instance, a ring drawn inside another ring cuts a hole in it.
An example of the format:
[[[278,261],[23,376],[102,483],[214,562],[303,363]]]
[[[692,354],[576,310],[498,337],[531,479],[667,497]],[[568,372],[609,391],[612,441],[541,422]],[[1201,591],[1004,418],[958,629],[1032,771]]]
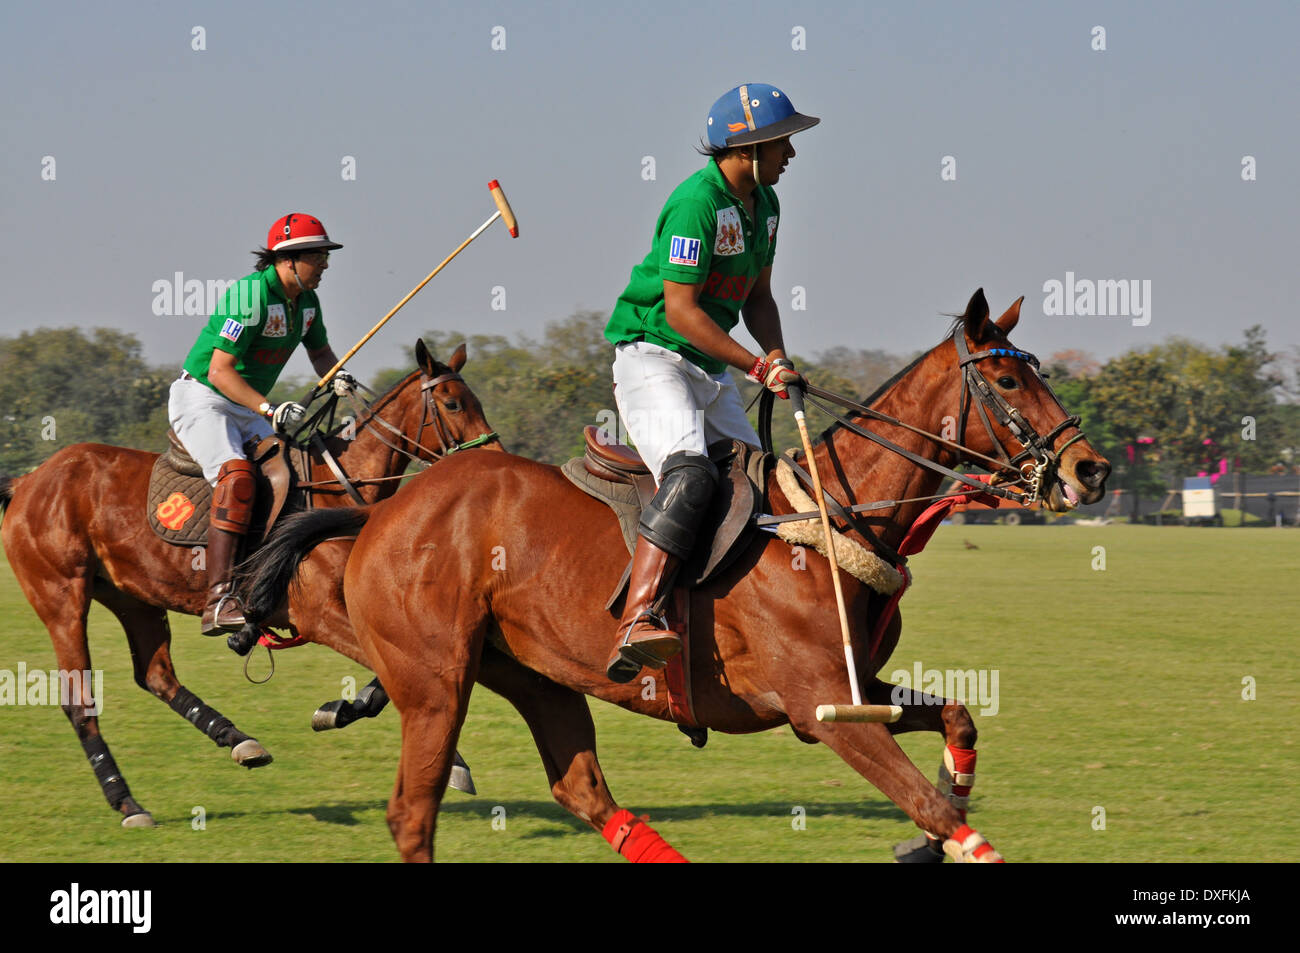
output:
[[[944,736],[944,757],[939,763],[939,792],[966,820],[971,787],[975,784],[975,722],[961,702],[902,688],[880,679],[867,686],[867,698],[875,705],[898,705],[902,716],[889,724],[890,735],[932,731]],[[942,839],[923,831],[909,841],[894,845],[900,863],[942,863]]]

